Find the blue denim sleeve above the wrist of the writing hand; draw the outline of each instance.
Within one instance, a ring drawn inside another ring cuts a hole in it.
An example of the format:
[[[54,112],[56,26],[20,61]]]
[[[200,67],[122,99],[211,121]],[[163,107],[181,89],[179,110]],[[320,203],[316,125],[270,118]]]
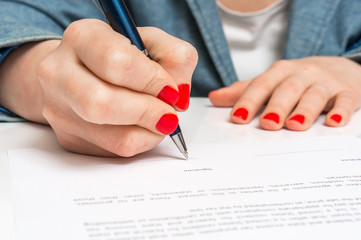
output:
[[[0,0],[0,48],[60,39],[82,18],[102,19],[91,0]]]

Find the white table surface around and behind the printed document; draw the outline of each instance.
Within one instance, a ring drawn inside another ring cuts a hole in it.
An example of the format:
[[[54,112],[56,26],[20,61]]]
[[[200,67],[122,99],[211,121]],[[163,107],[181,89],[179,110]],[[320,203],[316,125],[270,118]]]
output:
[[[202,141],[268,141],[282,138],[353,135],[361,138],[361,111],[355,113],[349,124],[331,128],[323,124],[320,116],[311,129],[305,132],[264,131],[255,119],[248,125],[229,122],[230,108],[212,107],[206,98],[192,98],[190,109],[180,114],[184,137],[188,143]],[[214,131],[208,131],[210,126]],[[361,146],[360,146],[361,147]],[[0,123],[0,239],[14,239],[14,216],[11,196],[11,178],[7,151],[17,148],[60,149],[52,130],[34,123]],[[65,151],[65,150],[64,150]]]

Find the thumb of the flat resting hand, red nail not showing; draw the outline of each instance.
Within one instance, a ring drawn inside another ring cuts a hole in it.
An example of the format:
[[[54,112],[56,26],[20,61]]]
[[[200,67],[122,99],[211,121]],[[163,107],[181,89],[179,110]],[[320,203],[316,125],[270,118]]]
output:
[[[229,87],[214,90],[208,94],[209,100],[216,107],[232,107],[250,81],[235,82]]]

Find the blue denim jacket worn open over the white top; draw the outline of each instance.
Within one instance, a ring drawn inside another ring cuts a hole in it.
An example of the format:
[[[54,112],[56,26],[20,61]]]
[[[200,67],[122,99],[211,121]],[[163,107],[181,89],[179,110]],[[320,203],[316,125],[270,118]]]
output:
[[[215,1],[127,0],[138,26],[155,26],[199,53],[192,96],[237,81]],[[361,63],[361,0],[293,0],[283,57],[344,56]],[[61,38],[82,18],[104,20],[91,0],[0,0],[0,48]]]

